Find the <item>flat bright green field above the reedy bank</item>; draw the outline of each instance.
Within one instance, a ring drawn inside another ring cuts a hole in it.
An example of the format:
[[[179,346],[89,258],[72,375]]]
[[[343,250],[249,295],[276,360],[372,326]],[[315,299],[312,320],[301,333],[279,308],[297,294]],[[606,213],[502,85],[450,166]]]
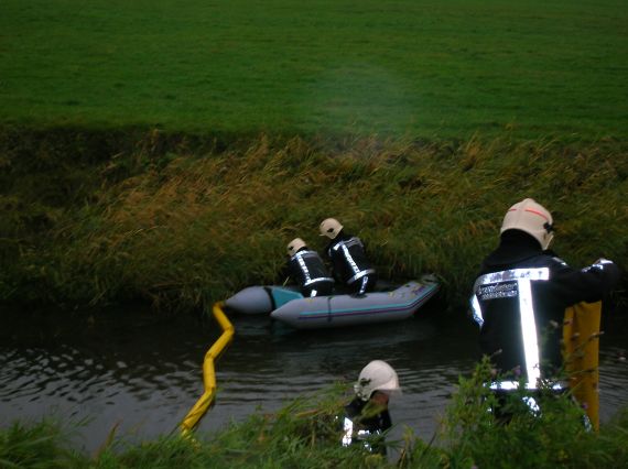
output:
[[[0,123],[628,137],[622,0],[3,0]]]

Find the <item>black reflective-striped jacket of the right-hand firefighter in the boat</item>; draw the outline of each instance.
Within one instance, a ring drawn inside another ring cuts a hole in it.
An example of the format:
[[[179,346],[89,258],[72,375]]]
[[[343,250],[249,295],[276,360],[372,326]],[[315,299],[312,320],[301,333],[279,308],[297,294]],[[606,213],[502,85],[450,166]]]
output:
[[[339,283],[349,285],[364,275],[375,274],[361,240],[344,230],[327,244],[325,252],[332,261],[334,279]]]

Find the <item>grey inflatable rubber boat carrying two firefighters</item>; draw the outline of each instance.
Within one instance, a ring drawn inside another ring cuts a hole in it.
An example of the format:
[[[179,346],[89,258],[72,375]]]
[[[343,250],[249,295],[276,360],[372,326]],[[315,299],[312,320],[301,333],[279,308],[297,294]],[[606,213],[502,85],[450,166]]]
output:
[[[432,275],[357,296],[335,294],[305,298],[296,287],[249,286],[225,301],[228,312],[269,314],[297,329],[356,326],[412,316],[438,291]]]

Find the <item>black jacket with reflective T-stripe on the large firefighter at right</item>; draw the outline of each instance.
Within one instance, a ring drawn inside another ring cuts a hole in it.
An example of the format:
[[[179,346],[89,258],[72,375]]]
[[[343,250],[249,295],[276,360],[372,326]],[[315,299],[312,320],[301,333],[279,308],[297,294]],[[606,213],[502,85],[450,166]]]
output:
[[[498,281],[500,276],[501,281]],[[535,275],[548,279],[537,279]],[[487,275],[488,274],[488,275]],[[596,302],[609,293],[620,273],[609,261],[583,270],[570,268],[539,242],[519,230],[505,231],[499,247],[483,262],[474,286],[472,306],[480,324],[479,345],[500,372],[526,373],[526,332],[523,326],[526,280],[531,279],[531,307],[542,375],[551,377],[562,367],[561,338],[565,308],[580,302]],[[523,306],[522,306],[523,305]],[[529,334],[528,337],[533,337]]]

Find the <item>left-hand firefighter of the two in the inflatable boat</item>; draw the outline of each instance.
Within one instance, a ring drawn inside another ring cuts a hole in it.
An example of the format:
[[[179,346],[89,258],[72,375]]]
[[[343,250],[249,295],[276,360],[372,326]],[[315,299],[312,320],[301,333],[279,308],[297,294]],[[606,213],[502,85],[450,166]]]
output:
[[[308,249],[301,238],[295,238],[288,243],[288,255],[289,275],[299,284],[303,296],[332,294],[334,279],[316,251]]]

